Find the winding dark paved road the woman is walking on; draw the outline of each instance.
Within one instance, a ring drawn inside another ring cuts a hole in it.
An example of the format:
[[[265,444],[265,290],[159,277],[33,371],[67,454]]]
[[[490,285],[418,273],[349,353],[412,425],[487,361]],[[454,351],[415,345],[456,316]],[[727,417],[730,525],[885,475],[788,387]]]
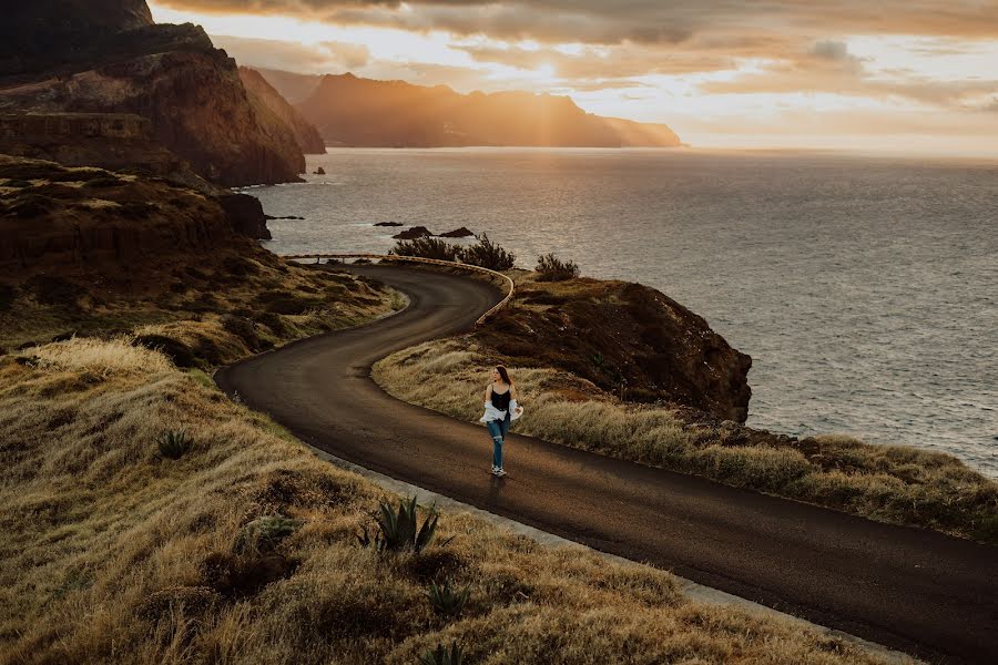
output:
[[[934,662],[998,663],[998,548],[515,433],[510,477],[493,479],[485,429],[396,400],[369,374],[393,351],[468,329],[498,291],[425,270],[354,269],[403,290],[410,307],[238,362],[218,385],[308,443],[398,480]]]

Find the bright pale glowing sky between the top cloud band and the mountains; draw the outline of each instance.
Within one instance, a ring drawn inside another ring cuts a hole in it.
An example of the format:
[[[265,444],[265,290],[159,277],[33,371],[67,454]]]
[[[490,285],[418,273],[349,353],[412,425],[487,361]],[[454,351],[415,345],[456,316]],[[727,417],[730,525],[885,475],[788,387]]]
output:
[[[700,145],[731,144],[735,137],[798,146],[811,141],[803,136],[817,136],[813,144],[827,146],[839,135],[886,143],[920,136],[926,145],[951,137],[954,145],[998,151],[998,76],[991,66],[998,41],[985,38],[845,34],[812,40],[797,51],[727,54],[696,51],[688,42],[548,43],[503,40],[486,30],[458,35],[432,23],[407,30],[390,20],[342,25],[249,9],[206,13],[150,7],[157,22],[203,25],[249,66],[352,71],[465,93],[564,94],[591,113],[668,123]],[[419,7],[378,11],[411,18]]]

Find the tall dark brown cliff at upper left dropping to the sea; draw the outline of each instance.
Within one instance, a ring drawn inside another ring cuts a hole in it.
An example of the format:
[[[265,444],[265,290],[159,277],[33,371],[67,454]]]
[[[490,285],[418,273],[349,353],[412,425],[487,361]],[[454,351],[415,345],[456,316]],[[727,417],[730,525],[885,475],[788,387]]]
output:
[[[235,62],[204,30],[151,24],[144,1],[99,3],[108,10],[100,24],[82,0],[35,2],[4,21],[0,112],[134,113],[197,174],[224,186],[304,172],[291,127],[254,109]],[[17,37],[21,28],[30,39]]]

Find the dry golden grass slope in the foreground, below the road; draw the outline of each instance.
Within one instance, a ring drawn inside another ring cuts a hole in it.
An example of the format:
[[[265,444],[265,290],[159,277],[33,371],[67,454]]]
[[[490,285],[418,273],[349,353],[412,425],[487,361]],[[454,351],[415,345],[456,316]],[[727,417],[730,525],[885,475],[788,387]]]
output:
[[[419,555],[363,549],[385,492],[149,354],[0,358],[0,662],[413,663],[451,638],[489,664],[877,662],[467,514]],[[193,448],[164,459],[177,429]],[[275,516],[297,528],[253,535]],[[445,577],[471,586],[449,622],[424,595]]]

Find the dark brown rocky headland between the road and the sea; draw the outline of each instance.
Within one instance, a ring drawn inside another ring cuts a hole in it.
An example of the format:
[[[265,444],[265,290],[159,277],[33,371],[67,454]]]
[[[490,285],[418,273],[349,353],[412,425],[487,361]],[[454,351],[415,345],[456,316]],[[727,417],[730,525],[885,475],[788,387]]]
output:
[[[473,334],[520,367],[559,367],[634,401],[744,422],[752,358],[662,293],[625,282],[523,282]]]

